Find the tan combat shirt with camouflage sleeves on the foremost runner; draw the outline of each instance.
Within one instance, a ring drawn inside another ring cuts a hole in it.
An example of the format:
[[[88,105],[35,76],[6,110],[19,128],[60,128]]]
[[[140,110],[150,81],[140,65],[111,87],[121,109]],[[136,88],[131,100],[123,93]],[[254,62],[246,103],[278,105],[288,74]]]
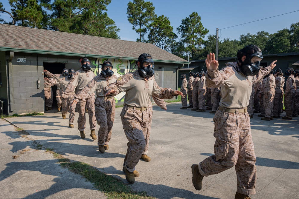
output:
[[[245,76],[239,69],[237,62],[226,63],[221,70],[208,70],[206,72],[206,85],[209,88],[221,87],[220,106],[230,109],[242,109],[249,105],[252,85],[265,75],[271,67],[261,68],[255,76]]]

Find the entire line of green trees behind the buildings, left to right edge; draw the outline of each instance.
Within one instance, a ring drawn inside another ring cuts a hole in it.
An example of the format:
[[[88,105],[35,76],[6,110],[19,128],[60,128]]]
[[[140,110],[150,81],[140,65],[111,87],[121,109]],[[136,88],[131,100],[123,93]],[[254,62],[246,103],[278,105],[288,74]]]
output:
[[[0,23],[119,39],[119,28],[106,11],[111,0],[9,0],[11,12],[0,2],[0,14],[12,21]],[[136,41],[151,43],[181,58],[203,59],[216,50],[216,36],[208,35],[198,13],[182,19],[174,33],[167,16],[157,16],[152,2],[133,0],[127,4],[127,18],[138,33]],[[178,36],[179,35],[179,36]],[[207,36],[207,39],[204,38]],[[219,40],[219,58],[234,57],[245,45],[255,44],[263,54],[299,52],[299,22],[270,34],[260,31],[241,35],[239,40]]]

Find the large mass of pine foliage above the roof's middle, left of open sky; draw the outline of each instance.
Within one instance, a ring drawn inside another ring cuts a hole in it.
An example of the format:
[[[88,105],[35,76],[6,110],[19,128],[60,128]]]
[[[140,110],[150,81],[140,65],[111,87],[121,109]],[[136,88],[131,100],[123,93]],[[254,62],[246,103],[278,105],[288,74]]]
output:
[[[67,33],[119,39],[115,22],[108,17],[111,0],[55,0],[51,29]]]

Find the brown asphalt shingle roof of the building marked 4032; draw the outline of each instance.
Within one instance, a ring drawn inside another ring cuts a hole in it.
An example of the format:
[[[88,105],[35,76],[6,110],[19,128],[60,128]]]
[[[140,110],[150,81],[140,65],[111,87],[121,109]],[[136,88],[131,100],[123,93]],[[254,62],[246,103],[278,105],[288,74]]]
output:
[[[184,63],[184,60],[152,44],[104,37],[64,33],[7,24],[0,24],[0,50],[17,48],[37,51],[79,53],[94,56],[138,59],[141,53],[149,53],[154,60]],[[22,51],[21,51],[22,52]],[[44,52],[47,54],[47,52]],[[54,53],[55,54],[55,53]]]

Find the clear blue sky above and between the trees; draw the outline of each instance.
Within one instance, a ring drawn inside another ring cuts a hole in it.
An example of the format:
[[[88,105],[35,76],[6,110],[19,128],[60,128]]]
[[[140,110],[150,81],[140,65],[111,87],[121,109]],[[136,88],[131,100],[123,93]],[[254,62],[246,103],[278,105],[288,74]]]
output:
[[[0,0],[5,10],[10,11],[8,0]],[[132,1],[132,0],[131,0]],[[120,28],[118,33],[123,40],[136,41],[139,37],[135,30],[132,30],[132,24],[127,19],[127,4],[129,0],[112,0],[108,5],[107,13],[115,24]],[[222,29],[250,21],[259,20],[283,13],[299,10],[298,0],[286,1],[200,1],[200,0],[151,0],[155,6],[155,13],[158,16],[162,14],[167,16],[170,24],[173,26],[174,33],[181,24],[183,18],[188,17],[192,12],[197,12],[201,16],[202,24],[210,32],[216,34],[216,28]],[[1,18],[10,21],[9,15],[1,13]],[[258,31],[275,33],[283,28],[289,28],[291,24],[299,22],[299,11],[286,15],[257,21],[237,27],[232,27],[219,31],[219,37],[239,39],[240,35]]]

